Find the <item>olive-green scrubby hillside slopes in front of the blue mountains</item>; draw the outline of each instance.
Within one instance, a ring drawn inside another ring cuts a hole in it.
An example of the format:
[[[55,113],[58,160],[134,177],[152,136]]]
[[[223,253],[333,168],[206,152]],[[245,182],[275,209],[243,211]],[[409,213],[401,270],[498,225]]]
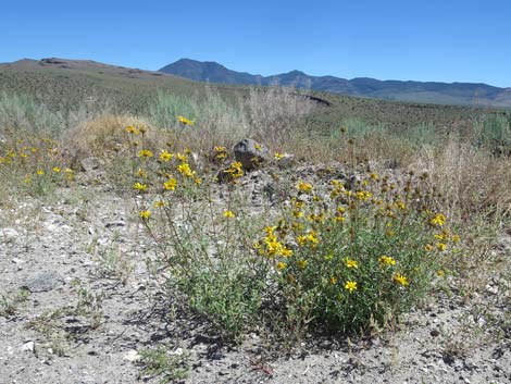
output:
[[[85,60],[21,60],[0,64],[0,92],[28,95],[53,110],[64,112],[92,104],[96,108],[140,114],[158,91],[200,98],[204,95],[205,86],[160,72]],[[230,101],[249,95],[247,86],[208,87]],[[507,113],[501,110],[394,102],[314,90],[307,90],[304,95],[323,101],[321,108],[315,109],[310,116],[311,128],[338,126],[350,119],[398,127],[423,123],[444,127],[488,113]]]

